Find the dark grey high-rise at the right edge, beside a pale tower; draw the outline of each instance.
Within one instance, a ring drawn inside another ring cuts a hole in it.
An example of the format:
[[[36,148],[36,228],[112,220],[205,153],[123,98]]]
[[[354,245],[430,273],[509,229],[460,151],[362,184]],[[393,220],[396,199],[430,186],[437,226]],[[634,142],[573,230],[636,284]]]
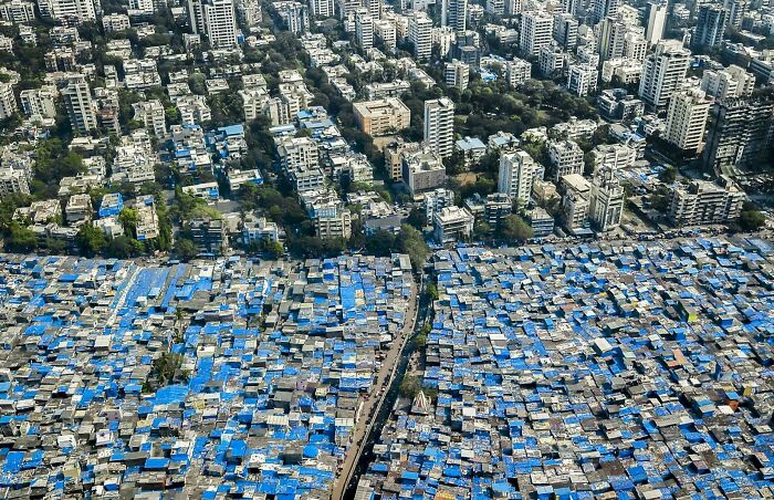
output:
[[[712,124],[704,146],[704,166],[715,174],[746,168],[772,142],[774,101],[732,98],[712,106]]]

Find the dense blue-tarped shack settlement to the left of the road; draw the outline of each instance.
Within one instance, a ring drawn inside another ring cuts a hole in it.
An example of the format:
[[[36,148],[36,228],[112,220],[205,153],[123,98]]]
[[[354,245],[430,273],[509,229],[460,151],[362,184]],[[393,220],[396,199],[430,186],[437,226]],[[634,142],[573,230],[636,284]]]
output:
[[[411,282],[402,256],[1,257],[0,497],[327,496]]]

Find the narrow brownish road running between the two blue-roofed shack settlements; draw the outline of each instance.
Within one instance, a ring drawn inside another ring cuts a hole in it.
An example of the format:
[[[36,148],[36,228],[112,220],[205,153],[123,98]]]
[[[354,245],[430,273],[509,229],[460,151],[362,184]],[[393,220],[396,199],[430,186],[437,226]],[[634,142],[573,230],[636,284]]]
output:
[[[404,323],[399,336],[393,341],[389,351],[387,351],[384,360],[381,360],[381,366],[376,376],[376,383],[360,408],[360,417],[357,419],[355,428],[353,429],[349,448],[344,456],[344,462],[342,462],[342,466],[336,472],[335,483],[331,492],[332,499],[341,500],[344,498],[344,492],[347,489],[352,473],[357,467],[374,418],[378,414],[381,402],[387,396],[387,390],[395,376],[394,368],[400,358],[400,353],[406,346],[406,342],[411,337],[411,333],[414,332],[414,324],[417,321],[417,283],[411,283],[411,299],[409,300],[408,311],[406,311],[406,322]]]

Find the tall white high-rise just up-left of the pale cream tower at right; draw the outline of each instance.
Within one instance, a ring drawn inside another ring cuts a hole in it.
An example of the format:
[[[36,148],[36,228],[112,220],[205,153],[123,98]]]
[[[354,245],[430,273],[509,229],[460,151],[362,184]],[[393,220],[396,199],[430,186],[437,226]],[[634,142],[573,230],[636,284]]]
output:
[[[686,79],[691,52],[679,40],[662,40],[645,60],[639,96],[650,107],[665,107]]]

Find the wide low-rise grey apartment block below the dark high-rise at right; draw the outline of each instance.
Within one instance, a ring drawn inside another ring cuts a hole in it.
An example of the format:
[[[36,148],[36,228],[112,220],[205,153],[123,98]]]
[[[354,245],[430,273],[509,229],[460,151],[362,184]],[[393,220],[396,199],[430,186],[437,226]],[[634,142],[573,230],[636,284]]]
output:
[[[693,180],[676,185],[669,200],[669,219],[674,226],[724,223],[742,212],[744,192],[728,177],[718,181]]]

